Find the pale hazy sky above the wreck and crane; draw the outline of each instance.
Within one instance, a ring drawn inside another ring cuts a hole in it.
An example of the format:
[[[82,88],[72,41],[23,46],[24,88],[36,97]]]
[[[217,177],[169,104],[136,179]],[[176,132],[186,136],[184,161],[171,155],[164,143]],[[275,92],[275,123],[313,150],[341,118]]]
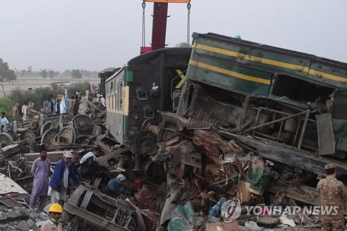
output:
[[[0,58],[11,68],[118,67],[139,55],[142,0],[1,0]],[[347,0],[192,0],[191,32],[347,62]],[[146,43],[153,4],[146,6]],[[187,7],[170,4],[167,43],[187,40]]]

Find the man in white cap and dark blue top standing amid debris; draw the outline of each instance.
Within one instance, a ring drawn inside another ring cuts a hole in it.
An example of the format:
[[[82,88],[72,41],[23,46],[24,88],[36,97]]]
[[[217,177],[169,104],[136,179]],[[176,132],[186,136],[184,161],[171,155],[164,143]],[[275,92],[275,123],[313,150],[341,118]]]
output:
[[[64,153],[64,158],[59,160],[53,171],[53,176],[49,182],[49,195],[51,203],[60,203],[64,205],[67,198],[67,190],[69,189],[69,181],[73,180],[74,184],[79,183],[78,176],[71,164],[73,157],[70,151]]]

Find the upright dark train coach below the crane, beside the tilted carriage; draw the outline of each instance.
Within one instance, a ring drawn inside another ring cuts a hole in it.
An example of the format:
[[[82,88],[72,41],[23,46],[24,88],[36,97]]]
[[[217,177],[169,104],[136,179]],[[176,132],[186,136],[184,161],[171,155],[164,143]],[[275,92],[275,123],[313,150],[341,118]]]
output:
[[[158,111],[177,109],[191,52],[173,47],[144,53],[105,81],[106,128],[132,153],[155,152],[155,137],[142,135],[142,123],[158,124]],[[140,169],[137,157],[135,168]]]

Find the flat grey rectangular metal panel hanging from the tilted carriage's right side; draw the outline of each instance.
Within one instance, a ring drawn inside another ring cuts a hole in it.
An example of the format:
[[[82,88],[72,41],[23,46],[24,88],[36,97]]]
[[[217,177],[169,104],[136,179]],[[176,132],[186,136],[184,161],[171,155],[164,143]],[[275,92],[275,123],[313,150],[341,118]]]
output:
[[[317,114],[317,132],[319,155],[329,155],[335,153],[335,137],[332,130],[331,114]]]

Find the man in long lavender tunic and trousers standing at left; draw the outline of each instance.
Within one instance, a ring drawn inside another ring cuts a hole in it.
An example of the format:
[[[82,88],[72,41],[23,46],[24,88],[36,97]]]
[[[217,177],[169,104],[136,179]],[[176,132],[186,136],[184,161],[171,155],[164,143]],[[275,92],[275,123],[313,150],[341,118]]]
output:
[[[41,146],[40,157],[34,160],[31,166],[31,175],[34,176],[33,191],[31,191],[30,207],[34,208],[39,200],[39,211],[44,209],[46,202],[48,187],[49,187],[49,171],[51,162],[47,158],[46,149]]]

